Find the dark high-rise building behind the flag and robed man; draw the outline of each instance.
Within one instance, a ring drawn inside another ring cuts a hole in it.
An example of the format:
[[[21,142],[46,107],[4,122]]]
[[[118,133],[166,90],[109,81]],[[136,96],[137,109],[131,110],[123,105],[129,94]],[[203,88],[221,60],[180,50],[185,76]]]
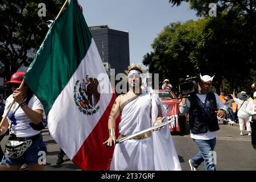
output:
[[[107,25],[89,29],[104,65],[115,69],[115,75],[124,73],[130,65],[129,32],[113,30]]]

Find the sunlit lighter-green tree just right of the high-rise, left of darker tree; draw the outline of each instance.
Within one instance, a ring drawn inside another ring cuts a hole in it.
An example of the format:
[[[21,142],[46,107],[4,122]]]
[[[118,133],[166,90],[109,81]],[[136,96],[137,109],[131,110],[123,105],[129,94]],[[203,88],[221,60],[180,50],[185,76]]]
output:
[[[197,45],[205,20],[181,24],[171,23],[164,27],[152,43],[154,52],[144,56],[143,64],[151,73],[160,73],[160,79],[169,78],[174,90],[178,90],[179,78],[194,75],[199,67],[197,60],[191,61],[192,51]]]

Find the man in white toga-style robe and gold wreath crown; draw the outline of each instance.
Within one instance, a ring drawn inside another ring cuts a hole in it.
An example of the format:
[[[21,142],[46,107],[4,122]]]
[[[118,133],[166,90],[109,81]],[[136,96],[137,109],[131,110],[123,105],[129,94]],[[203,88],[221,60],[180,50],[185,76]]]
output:
[[[115,119],[121,114],[119,137],[158,125],[165,119],[164,108],[152,89],[141,89],[140,65],[128,67],[128,93],[118,96],[109,116],[110,137],[106,142],[115,145],[110,170],[181,170],[169,127],[149,132],[125,142],[115,144]]]

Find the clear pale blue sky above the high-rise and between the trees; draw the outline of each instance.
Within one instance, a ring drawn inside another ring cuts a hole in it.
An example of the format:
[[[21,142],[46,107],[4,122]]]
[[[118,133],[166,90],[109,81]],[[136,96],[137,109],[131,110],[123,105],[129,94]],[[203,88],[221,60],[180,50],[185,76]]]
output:
[[[158,34],[172,22],[196,20],[188,3],[172,7],[168,0],[80,0],[88,26],[108,25],[129,31],[130,63],[142,63]]]

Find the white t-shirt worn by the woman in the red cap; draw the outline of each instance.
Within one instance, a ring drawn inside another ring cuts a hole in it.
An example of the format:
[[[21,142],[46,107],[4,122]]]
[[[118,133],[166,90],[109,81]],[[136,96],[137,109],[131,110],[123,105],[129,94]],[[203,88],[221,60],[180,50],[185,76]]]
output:
[[[6,100],[5,112],[7,110],[7,107],[11,104],[11,102],[13,102],[13,100],[14,100],[13,94],[11,94],[11,96],[9,96]],[[7,119],[9,121],[9,129],[11,126],[11,120],[9,118],[10,113],[12,110],[15,111],[15,109],[18,106],[19,106],[19,104],[15,102],[13,107],[11,108],[9,114],[7,115]],[[44,111],[42,103],[39,101],[39,99],[35,95],[33,95],[31,97],[30,101],[28,102],[28,107],[30,107],[32,110],[41,109]],[[14,117],[16,119],[16,125],[14,125],[14,123],[13,123],[13,125],[11,127],[11,133],[15,134],[16,137],[32,137],[32,136],[40,133],[40,131],[32,129],[32,127],[29,125],[31,120],[28,119],[27,115],[24,113],[22,108],[19,107],[15,111]]]

